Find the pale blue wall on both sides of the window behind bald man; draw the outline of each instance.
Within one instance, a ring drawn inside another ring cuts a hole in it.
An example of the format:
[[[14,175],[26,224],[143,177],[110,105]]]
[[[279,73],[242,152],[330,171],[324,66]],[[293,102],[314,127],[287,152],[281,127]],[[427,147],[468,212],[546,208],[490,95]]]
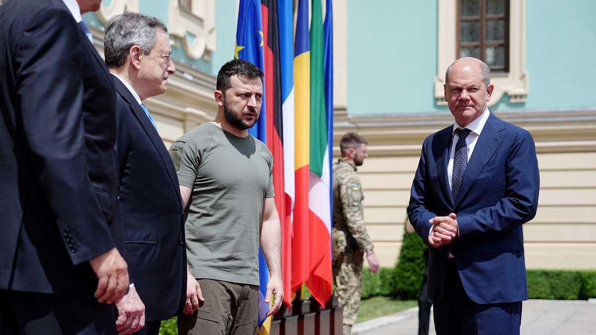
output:
[[[526,1],[526,103],[493,110],[596,107],[596,1]],[[349,1],[347,113],[444,111],[434,102],[437,0]]]

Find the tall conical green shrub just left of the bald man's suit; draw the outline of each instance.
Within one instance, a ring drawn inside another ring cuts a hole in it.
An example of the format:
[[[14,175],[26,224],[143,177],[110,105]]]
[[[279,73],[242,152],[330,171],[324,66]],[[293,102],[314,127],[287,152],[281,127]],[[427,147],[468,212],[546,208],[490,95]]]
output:
[[[392,296],[402,300],[418,299],[424,268],[426,244],[416,232],[403,231],[402,249],[395,266]]]

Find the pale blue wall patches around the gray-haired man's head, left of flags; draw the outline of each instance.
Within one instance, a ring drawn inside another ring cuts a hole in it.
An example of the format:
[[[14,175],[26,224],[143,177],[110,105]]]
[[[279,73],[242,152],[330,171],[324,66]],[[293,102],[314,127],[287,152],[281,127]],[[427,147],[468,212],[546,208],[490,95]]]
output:
[[[102,4],[108,6],[113,0],[102,0]],[[169,1],[166,0],[141,0],[139,2],[139,12],[145,15],[151,15],[159,18],[168,26]],[[182,63],[193,67],[194,69],[216,76],[219,68],[226,61],[234,57],[234,41],[236,32],[237,0],[216,0],[215,1],[215,25],[216,25],[216,46],[215,52],[211,54],[211,60],[203,59],[193,60],[188,58],[182,47],[172,48],[172,58],[177,63]],[[83,20],[96,29],[102,29],[104,26],[98,20],[95,13],[86,13]],[[193,36],[190,36],[193,38]]]

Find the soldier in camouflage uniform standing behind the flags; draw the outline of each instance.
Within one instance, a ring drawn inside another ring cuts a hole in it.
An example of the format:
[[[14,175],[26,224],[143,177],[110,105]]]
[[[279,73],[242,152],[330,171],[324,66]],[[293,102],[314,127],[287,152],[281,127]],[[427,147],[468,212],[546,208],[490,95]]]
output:
[[[343,307],[343,335],[349,335],[360,307],[364,254],[369,271],[378,271],[378,259],[364,224],[364,193],[356,175],[356,166],[367,157],[367,141],[350,132],[340,148],[342,158],[333,166],[333,287]]]

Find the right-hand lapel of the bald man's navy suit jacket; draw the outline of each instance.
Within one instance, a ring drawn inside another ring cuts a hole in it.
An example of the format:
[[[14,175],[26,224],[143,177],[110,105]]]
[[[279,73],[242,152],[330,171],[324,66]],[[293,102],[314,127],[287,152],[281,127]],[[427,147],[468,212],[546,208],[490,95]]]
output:
[[[496,149],[502,141],[502,137],[499,135],[499,132],[502,131],[502,129],[504,128],[501,120],[491,113],[488,120],[486,120],[486,125],[482,129],[482,133],[478,137],[476,147],[474,147],[468,166],[465,168],[464,175],[461,179],[460,192],[457,194],[457,199],[455,199],[455,207],[460,204],[462,197],[468,192],[471,185],[480,174],[480,171],[482,171],[486,163],[488,163],[493,154],[495,154]]]

